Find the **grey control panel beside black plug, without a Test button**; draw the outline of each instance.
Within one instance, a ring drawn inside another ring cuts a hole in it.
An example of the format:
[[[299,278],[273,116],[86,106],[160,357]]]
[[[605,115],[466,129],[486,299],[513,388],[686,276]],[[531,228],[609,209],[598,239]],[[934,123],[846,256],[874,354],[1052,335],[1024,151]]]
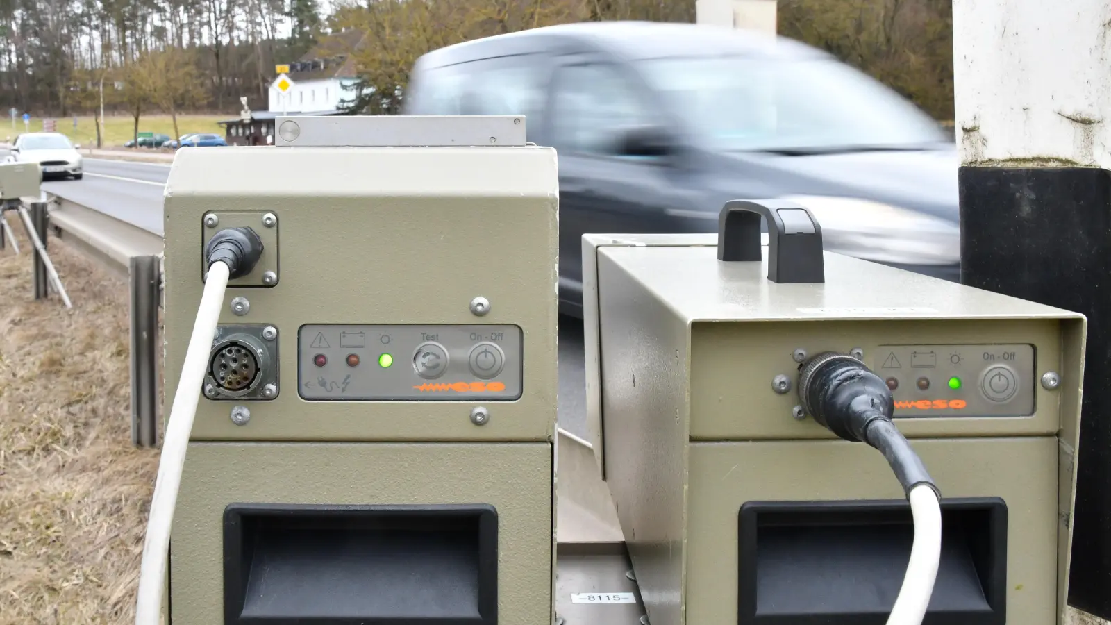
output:
[[[869,366],[895,417],[1017,417],[1034,411],[1032,345],[881,345]]]

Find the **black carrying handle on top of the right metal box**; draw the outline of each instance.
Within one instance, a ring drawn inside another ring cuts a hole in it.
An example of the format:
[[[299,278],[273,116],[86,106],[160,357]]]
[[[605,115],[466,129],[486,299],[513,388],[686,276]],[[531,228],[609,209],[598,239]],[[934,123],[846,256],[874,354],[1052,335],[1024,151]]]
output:
[[[718,217],[718,260],[761,261],[760,221],[768,222],[768,279],[778,284],[825,282],[822,228],[788,200],[732,200]]]

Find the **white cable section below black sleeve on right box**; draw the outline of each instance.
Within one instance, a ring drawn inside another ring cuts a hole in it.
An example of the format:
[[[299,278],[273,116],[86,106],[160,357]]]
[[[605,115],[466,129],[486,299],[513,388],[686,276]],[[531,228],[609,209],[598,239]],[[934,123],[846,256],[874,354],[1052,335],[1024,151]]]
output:
[[[908,498],[914,517],[914,544],[888,625],[921,625],[941,559],[941,504],[937,492],[929,484],[919,484],[910,489]]]

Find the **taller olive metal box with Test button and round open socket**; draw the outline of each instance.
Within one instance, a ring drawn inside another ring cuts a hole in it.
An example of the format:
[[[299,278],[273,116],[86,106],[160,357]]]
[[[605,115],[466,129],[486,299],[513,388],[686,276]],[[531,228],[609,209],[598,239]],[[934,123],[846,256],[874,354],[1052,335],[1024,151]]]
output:
[[[176,156],[167,397],[204,242],[249,227],[263,254],[229,284],[197,389],[173,625],[554,618],[556,152],[523,126],[409,147],[406,123]]]

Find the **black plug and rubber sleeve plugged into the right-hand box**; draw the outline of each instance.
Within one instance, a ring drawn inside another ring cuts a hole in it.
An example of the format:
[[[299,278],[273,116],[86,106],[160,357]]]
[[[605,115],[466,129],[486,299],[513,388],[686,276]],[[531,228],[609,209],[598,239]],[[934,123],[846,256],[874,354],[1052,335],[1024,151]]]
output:
[[[843,354],[814,356],[799,377],[799,398],[807,414],[833,434],[879,449],[908,495],[928,484],[940,497],[925,465],[891,421],[891,389],[863,363]]]

